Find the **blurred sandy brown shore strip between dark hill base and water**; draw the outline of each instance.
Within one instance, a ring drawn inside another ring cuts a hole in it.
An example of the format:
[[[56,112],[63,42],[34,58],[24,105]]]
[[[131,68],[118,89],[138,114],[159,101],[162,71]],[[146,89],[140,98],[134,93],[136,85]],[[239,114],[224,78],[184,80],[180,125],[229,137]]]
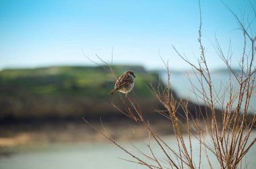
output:
[[[99,131],[118,141],[144,139],[148,137],[143,125],[129,119],[92,121]],[[102,125],[103,124],[103,125]],[[155,119],[150,125],[160,135],[172,134],[172,126],[165,119]],[[28,146],[33,144],[108,142],[82,119],[80,121],[55,121],[49,123],[1,124],[0,148]]]

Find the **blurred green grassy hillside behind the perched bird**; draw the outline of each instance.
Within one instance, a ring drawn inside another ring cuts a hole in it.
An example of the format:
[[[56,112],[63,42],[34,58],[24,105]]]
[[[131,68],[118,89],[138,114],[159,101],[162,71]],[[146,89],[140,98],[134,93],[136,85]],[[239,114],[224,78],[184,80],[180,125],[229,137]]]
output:
[[[141,66],[113,66],[117,76],[135,72],[134,91],[144,112],[158,107],[147,85],[158,75]],[[0,119],[67,118],[115,115],[110,103],[121,105],[119,94],[108,95],[115,78],[101,67],[57,66],[0,72]]]

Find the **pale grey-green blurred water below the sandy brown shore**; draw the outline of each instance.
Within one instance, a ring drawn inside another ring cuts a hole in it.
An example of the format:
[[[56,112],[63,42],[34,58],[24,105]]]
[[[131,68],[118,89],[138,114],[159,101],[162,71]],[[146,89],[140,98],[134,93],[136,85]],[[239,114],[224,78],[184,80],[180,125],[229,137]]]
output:
[[[255,138],[256,131],[251,133],[250,140]],[[177,149],[176,139],[173,135],[164,137],[168,146]],[[148,143],[148,140],[143,140]],[[119,143],[127,151],[135,154],[142,160],[150,162],[131,145],[130,142]],[[146,144],[141,141],[134,141],[134,146],[139,148],[142,152],[150,155],[150,150]],[[185,136],[185,144],[189,146],[189,139]],[[199,143],[194,138],[191,140],[193,147],[193,160],[198,167],[199,164]],[[156,142],[151,142],[152,150],[156,157],[164,160],[164,153]],[[166,149],[166,151],[168,151]],[[218,161],[215,156],[208,152],[207,154],[212,162],[214,168],[219,168]],[[256,161],[256,145],[254,145],[247,154],[248,168],[255,168]],[[126,154],[123,150],[115,146],[114,144],[102,144],[102,143],[80,143],[80,144],[49,144],[44,146],[24,146],[20,148],[14,148],[11,154],[5,154],[0,156],[0,168],[1,169],[130,169],[130,168],[146,168],[140,164],[134,164],[127,162],[121,158],[127,160],[135,160]],[[203,168],[209,168],[207,160],[202,151],[202,166]]]

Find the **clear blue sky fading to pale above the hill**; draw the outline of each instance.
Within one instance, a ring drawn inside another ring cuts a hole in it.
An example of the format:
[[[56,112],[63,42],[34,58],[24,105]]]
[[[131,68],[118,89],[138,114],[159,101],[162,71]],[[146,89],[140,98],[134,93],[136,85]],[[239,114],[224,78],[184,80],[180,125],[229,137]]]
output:
[[[224,1],[238,16],[251,18],[249,2]],[[255,1],[251,3],[256,7]],[[243,36],[234,17],[218,0],[201,0],[201,13],[210,68],[224,66],[212,45],[215,36],[224,52],[231,39],[232,62],[237,66]],[[0,69],[93,65],[82,50],[93,60],[98,54],[110,62],[113,48],[114,64],[163,68],[159,51],[170,68],[183,70],[189,65],[172,45],[195,61],[198,27],[195,0],[0,0]]]

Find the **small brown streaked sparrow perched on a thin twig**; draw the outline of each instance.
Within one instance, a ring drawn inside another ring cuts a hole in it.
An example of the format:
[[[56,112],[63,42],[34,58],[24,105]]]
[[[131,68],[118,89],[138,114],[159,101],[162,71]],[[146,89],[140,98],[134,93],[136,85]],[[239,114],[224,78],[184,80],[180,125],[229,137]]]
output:
[[[121,93],[125,93],[127,96],[128,93],[133,89],[134,82],[136,76],[134,75],[133,71],[128,70],[122,76],[117,79],[115,83],[115,88],[109,92],[110,95],[113,95],[116,91]]]

